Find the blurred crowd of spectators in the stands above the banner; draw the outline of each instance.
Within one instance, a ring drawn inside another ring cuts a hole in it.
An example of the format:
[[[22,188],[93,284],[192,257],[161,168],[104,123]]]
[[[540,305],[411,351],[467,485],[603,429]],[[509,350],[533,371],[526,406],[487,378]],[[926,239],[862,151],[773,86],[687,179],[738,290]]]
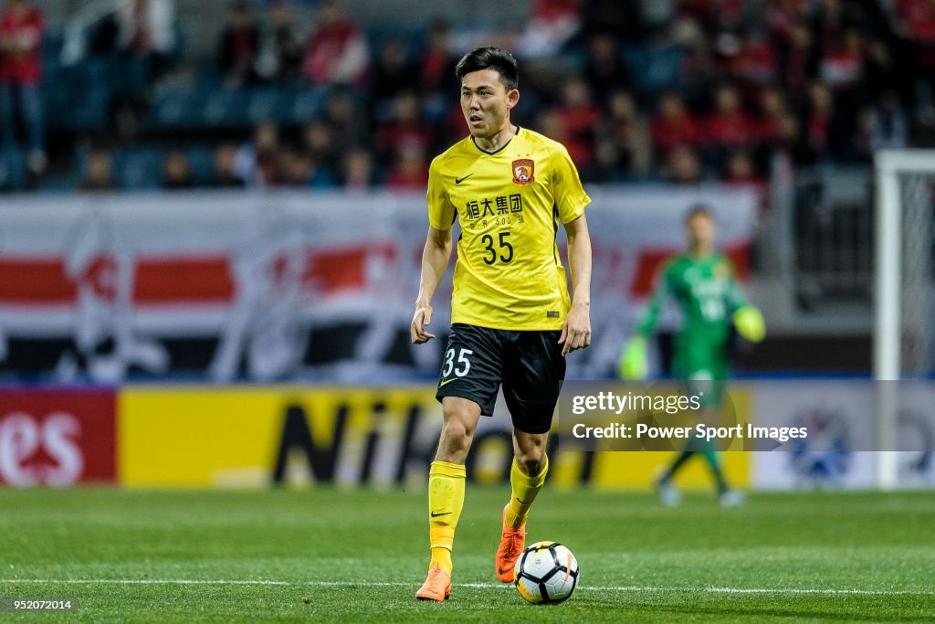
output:
[[[87,29],[79,61],[115,82],[89,104],[105,118],[50,132],[43,96],[70,69],[50,66],[61,51],[41,3],[6,0],[0,189],[419,190],[432,156],[465,135],[453,66],[466,42],[515,51],[520,123],[563,142],[585,181],[761,184],[776,159],[867,163],[935,128],[935,0],[535,0],[519,32],[435,20],[415,34],[313,4],[299,32],[290,0],[233,0],[215,58],[199,63],[174,0],[122,3]],[[173,128],[157,113],[182,75],[209,94],[320,97],[297,118],[272,107]]]

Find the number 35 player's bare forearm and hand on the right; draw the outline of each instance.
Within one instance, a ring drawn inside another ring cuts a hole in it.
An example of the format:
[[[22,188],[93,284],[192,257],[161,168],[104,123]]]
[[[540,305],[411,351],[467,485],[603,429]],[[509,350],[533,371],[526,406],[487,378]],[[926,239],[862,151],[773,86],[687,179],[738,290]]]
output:
[[[571,268],[571,310],[562,325],[558,343],[562,355],[591,344],[591,235],[587,218],[581,215],[565,224],[568,236],[568,265]]]

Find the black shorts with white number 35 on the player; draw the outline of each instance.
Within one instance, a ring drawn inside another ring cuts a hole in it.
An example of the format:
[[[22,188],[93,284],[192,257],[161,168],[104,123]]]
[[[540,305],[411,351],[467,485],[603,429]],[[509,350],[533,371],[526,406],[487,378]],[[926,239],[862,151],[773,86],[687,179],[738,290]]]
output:
[[[511,331],[455,323],[441,362],[436,399],[461,397],[494,414],[496,392],[513,427],[526,433],[552,428],[558,391],[565,379],[561,331]]]

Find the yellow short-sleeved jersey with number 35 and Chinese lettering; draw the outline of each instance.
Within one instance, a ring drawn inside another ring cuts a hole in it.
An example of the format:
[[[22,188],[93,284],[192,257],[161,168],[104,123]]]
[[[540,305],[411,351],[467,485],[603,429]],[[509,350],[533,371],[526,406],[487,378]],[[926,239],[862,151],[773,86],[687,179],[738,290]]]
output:
[[[525,128],[496,152],[468,137],[436,157],[428,221],[461,224],[452,323],[561,329],[570,298],[555,237],[590,202],[565,147]]]

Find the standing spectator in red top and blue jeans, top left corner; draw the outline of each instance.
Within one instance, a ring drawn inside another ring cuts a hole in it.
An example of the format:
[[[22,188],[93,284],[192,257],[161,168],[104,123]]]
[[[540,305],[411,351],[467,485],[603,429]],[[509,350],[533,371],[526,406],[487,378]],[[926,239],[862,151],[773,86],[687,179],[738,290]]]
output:
[[[42,113],[42,11],[29,0],[9,0],[0,14],[0,131],[3,146],[15,144],[16,111],[25,125],[28,164],[34,174],[46,168]],[[19,106],[17,106],[19,105]]]

